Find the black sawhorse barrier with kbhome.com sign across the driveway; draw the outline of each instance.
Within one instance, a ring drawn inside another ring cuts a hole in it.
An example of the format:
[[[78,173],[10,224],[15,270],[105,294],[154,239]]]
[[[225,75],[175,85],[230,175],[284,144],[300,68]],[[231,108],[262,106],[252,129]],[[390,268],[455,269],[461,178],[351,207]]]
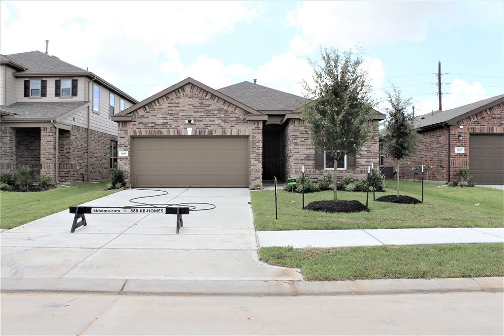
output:
[[[87,226],[85,214],[174,214],[177,215],[177,235],[181,227],[184,226],[182,221],[183,214],[189,214],[188,207],[185,206],[168,206],[164,208],[152,207],[131,207],[121,208],[112,206],[71,206],[70,213],[75,213],[72,229],[70,233],[74,233],[75,229]]]

